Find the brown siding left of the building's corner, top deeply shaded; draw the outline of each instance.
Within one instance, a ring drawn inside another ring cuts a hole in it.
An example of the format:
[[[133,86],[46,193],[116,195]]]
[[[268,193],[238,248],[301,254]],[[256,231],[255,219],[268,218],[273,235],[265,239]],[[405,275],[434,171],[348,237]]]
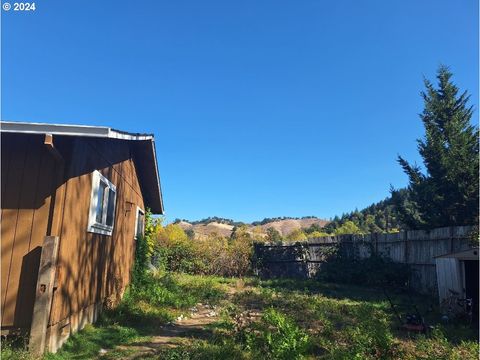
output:
[[[55,162],[42,136],[2,135],[2,328],[28,328]]]

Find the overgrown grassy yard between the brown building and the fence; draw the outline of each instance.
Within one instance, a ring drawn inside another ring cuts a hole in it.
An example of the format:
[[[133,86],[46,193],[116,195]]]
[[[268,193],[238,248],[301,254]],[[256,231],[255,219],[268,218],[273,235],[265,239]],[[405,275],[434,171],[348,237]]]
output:
[[[414,300],[422,312],[430,306],[428,299]],[[129,290],[115,311],[45,358],[478,359],[474,330],[441,324],[434,311],[427,319],[428,336],[400,330],[375,289],[161,274]],[[2,359],[28,357],[2,349]]]

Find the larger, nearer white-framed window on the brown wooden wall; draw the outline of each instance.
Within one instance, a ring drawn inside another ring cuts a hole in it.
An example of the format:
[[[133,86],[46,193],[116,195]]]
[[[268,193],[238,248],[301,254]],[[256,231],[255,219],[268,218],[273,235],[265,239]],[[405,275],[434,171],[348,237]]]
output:
[[[88,231],[112,235],[115,223],[115,203],[117,188],[105,176],[95,170],[92,173],[92,195],[90,198],[90,214]]]

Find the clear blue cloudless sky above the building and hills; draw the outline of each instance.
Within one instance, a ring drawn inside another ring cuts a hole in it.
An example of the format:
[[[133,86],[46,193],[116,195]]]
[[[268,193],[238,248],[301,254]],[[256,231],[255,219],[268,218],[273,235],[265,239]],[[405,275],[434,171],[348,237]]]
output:
[[[478,107],[477,0],[35,3],[1,11],[2,119],[154,133],[168,220],[360,209],[420,160],[423,76]]]

